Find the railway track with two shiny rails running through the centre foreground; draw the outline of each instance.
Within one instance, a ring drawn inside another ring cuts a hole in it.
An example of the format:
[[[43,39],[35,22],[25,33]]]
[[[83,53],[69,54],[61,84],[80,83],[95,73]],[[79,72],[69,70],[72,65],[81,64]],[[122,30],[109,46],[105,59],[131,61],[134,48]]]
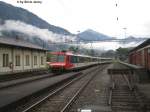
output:
[[[22,112],[66,112],[82,90],[99,72],[98,67],[64,84]],[[86,76],[86,77],[85,77]]]

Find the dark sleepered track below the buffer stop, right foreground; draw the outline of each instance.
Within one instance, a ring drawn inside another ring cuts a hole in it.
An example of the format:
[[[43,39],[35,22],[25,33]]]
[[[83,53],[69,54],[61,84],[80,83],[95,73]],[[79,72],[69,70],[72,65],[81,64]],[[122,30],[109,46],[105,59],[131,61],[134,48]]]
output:
[[[148,112],[146,99],[130,83],[127,75],[113,75],[112,80],[109,103],[113,112]]]

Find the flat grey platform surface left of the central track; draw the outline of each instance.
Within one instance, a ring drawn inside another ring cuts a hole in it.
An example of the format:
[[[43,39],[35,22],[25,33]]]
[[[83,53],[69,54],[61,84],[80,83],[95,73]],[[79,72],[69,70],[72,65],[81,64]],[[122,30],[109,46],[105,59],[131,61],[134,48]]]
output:
[[[57,82],[69,78],[75,75],[75,73],[68,73],[65,75],[59,75],[56,77],[47,77],[41,80],[35,80],[24,84],[19,84],[9,88],[0,89],[0,108],[15,101],[18,101],[26,96],[36,93],[44,88],[52,86]],[[13,83],[10,82],[10,83]],[[4,84],[4,83],[3,83]]]

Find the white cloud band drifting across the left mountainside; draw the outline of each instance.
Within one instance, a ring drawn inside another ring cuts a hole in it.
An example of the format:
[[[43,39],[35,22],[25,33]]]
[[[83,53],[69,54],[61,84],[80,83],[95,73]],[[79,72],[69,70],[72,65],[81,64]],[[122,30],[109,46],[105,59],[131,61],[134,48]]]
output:
[[[30,24],[14,20],[6,20],[3,25],[0,25],[0,31],[17,31],[30,37],[37,36],[41,39],[49,40],[51,42],[65,42],[66,39],[69,39],[69,41],[74,41],[75,39],[74,36],[56,34],[48,29],[40,29]]]

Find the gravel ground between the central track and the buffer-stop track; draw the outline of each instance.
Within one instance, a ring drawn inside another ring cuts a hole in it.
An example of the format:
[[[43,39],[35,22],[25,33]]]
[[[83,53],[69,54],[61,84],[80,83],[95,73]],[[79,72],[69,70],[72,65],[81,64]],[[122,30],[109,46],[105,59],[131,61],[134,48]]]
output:
[[[111,111],[108,105],[110,77],[107,74],[107,69],[112,66],[113,65],[109,65],[107,68],[103,69],[103,71],[89,83],[69,112],[80,112],[81,110],[88,109],[91,109],[92,112]]]

